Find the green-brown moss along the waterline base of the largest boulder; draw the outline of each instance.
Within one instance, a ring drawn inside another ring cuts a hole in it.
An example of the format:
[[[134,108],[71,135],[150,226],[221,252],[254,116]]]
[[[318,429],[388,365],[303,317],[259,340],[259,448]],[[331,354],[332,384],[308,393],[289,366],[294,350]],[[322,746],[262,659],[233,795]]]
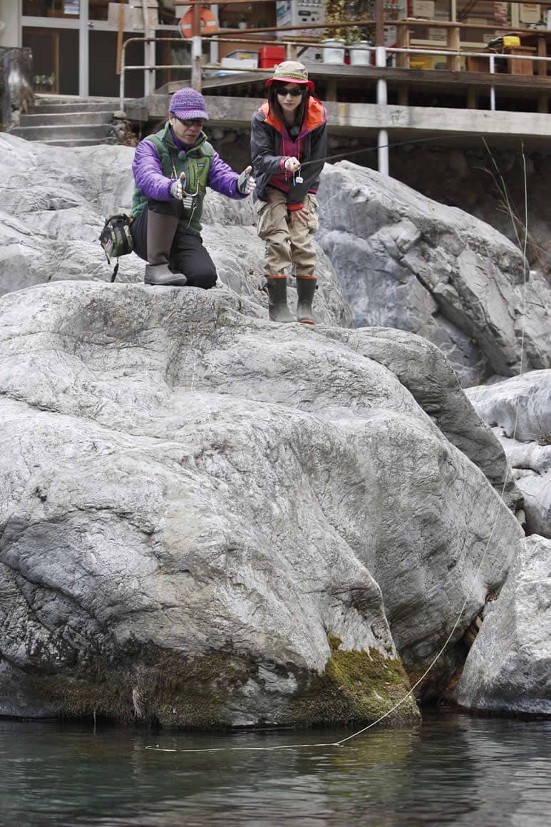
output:
[[[272,665],[281,676],[293,674],[297,681],[294,696],[277,697],[276,723],[309,726],[370,721],[388,712],[409,691],[400,658],[384,657],[375,648],[343,650],[340,638],[328,638],[328,642],[331,654],[321,675],[290,664]],[[246,705],[242,688],[247,681],[262,682],[256,661],[234,652],[189,657],[149,646],[136,655],[139,665],[120,663],[118,668],[98,666],[80,675],[41,676],[35,679],[36,688],[60,715],[210,729],[228,726],[228,708],[236,701]],[[399,723],[418,717],[410,696],[389,719]]]

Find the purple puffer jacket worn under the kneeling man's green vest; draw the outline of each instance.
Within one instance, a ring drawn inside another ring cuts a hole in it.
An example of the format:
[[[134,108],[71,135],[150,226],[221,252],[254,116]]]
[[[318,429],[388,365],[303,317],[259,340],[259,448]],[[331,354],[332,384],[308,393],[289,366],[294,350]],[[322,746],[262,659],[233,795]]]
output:
[[[170,129],[170,127],[168,128]],[[170,136],[176,151],[189,151],[191,149],[190,146],[181,143],[171,129]],[[194,147],[199,146],[204,141],[206,141],[206,136],[204,132],[201,132],[194,143]],[[154,198],[156,201],[172,200],[170,186],[175,182],[175,178],[167,178],[163,174],[161,159],[151,141],[144,140],[137,145],[132,162],[132,172],[134,173],[137,189],[140,190],[141,194],[146,195],[147,198]],[[231,166],[228,166],[222,160],[218,152],[214,151],[208,173],[208,186],[215,189],[217,193],[228,195],[228,198],[247,198],[247,195],[243,195],[237,189],[238,178],[237,172],[234,172]]]

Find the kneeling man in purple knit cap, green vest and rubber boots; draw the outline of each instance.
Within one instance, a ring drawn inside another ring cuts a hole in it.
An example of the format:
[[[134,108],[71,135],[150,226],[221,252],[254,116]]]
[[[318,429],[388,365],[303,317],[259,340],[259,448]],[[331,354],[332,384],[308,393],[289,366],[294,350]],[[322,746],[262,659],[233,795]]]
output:
[[[203,95],[179,89],[164,129],[137,145],[131,232],[134,250],[147,261],[146,284],[213,287],[216,268],[200,223],[207,187],[228,198],[246,198],[255,187],[250,166],[238,175],[208,143],[207,120]]]

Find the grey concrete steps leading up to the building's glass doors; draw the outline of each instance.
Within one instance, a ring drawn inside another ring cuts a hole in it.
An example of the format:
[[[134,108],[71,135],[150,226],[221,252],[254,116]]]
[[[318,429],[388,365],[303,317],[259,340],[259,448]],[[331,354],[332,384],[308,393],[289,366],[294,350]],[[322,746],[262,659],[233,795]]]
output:
[[[38,103],[12,135],[51,146],[117,144],[121,125],[115,122],[117,106],[109,101],[73,100]],[[122,131],[124,131],[122,129]]]

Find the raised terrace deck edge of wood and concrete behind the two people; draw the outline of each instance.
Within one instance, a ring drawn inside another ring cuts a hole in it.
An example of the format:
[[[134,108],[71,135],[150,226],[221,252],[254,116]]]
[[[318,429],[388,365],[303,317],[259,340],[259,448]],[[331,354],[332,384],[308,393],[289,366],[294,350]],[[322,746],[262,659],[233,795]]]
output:
[[[205,76],[209,125],[247,129],[270,77],[271,71]],[[472,146],[485,136],[494,146],[518,147],[522,141],[527,149],[551,147],[551,76],[316,64],[309,65],[309,77],[327,104],[333,134],[369,142],[385,129],[389,141],[442,136],[446,146]],[[386,105],[376,103],[380,79],[386,79]],[[158,122],[168,111],[170,93],[185,83],[175,81],[148,98],[128,101],[127,117]]]

